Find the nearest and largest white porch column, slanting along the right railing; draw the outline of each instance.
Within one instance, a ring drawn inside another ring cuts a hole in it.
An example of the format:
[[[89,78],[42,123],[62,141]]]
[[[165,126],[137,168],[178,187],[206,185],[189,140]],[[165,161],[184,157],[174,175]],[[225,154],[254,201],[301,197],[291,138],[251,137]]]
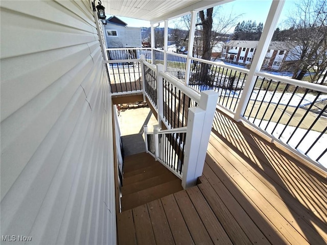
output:
[[[249,75],[247,77],[247,81],[245,83],[243,93],[240,98],[239,105],[235,112],[234,119],[237,121],[241,120],[241,117],[245,111],[246,105],[250,99],[251,91],[255,84],[256,77],[254,76],[256,71],[260,71],[260,68],[264,62],[272,35],[276,29],[277,21],[279,15],[283,10],[285,0],[274,0],[272,1],[267,20],[262,31],[260,41],[258,43],[258,47],[256,48],[254,57],[252,59],[251,68],[249,71]]]

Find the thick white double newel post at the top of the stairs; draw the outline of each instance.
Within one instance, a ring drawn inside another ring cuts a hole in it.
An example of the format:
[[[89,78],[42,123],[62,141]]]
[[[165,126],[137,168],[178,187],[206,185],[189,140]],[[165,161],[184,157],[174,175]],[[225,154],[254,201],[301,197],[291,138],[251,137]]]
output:
[[[199,106],[189,109],[182,177],[184,189],[194,186],[202,175],[217,101],[217,92],[202,91]]]

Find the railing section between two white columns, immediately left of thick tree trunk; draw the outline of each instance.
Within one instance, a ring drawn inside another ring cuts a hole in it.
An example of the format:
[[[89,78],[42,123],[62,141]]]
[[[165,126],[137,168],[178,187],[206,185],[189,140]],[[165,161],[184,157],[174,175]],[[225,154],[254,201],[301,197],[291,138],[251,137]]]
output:
[[[167,53],[166,72],[170,76],[184,82],[185,70],[186,70],[186,56],[185,55],[177,55],[177,54]]]

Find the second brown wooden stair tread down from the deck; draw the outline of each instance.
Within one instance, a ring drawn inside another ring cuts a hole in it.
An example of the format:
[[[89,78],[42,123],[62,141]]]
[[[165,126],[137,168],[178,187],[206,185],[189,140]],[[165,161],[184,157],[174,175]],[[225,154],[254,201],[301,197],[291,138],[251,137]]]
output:
[[[128,195],[133,192],[137,192],[140,190],[147,189],[149,187],[153,187],[159,184],[163,184],[172,180],[178,179],[173,173],[171,173],[169,170],[168,171],[163,171],[161,175],[154,176],[152,178],[139,181],[133,184],[129,185],[123,185],[122,187],[122,194],[123,195]]]

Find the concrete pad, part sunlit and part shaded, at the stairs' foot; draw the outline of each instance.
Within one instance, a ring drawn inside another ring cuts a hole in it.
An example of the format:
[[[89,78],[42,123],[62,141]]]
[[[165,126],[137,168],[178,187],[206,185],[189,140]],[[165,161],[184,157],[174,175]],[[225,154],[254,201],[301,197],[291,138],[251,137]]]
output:
[[[119,116],[124,156],[145,152],[145,139],[143,126],[147,125],[149,131],[158,122],[149,107],[136,109],[122,109]]]

